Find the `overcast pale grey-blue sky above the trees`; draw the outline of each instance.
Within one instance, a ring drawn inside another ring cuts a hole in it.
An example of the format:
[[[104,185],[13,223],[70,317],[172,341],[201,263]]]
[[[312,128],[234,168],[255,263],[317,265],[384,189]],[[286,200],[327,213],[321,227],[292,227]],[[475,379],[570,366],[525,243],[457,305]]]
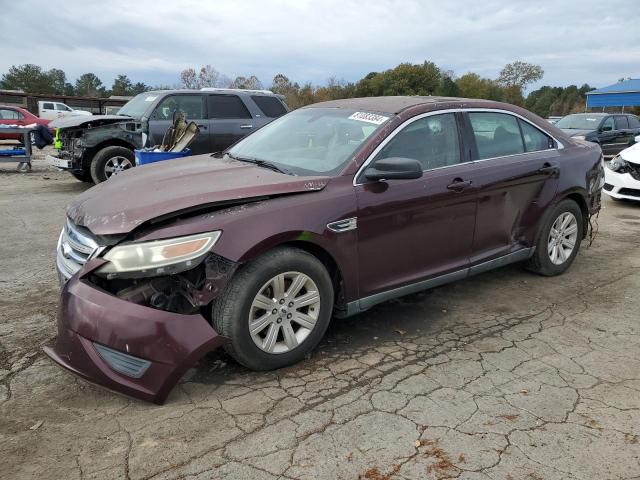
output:
[[[92,4],[90,4],[92,3]],[[637,0],[32,1],[0,0],[0,73],[35,63],[72,82],[118,73],[175,84],[210,64],[265,86],[358,80],[431,60],[495,78],[508,62],[541,65],[539,85],[605,86],[640,77]]]

